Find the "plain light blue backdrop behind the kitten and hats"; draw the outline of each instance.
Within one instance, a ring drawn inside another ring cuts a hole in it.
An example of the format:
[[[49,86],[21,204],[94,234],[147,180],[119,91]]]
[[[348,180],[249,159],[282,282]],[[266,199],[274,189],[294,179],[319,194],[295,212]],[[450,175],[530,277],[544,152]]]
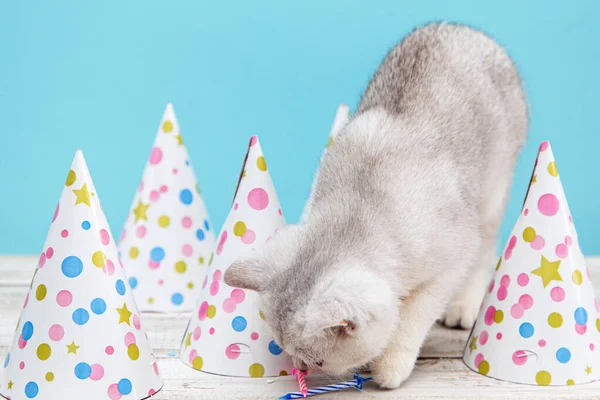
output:
[[[40,251],[77,148],[114,236],[173,102],[213,225],[258,134],[295,221],[339,103],[353,109],[385,53],[416,25],[494,36],[531,105],[500,240],[550,139],[586,254],[600,254],[600,2],[11,1],[0,3],[0,252]]]

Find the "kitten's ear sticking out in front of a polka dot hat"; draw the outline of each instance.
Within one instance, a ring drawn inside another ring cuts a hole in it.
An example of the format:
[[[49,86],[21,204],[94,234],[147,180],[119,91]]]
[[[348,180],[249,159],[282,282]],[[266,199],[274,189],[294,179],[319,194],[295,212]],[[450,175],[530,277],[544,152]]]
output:
[[[268,281],[268,271],[262,257],[249,255],[235,261],[224,275],[229,286],[260,292]]]

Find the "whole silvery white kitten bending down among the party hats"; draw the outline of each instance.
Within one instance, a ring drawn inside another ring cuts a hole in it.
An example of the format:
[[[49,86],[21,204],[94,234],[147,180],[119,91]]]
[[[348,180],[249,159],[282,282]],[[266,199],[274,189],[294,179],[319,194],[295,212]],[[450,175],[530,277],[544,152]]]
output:
[[[300,368],[371,363],[396,388],[436,319],[470,328],[527,107],[502,48],[468,27],[431,24],[385,58],[321,162],[305,223],[225,273],[256,290]]]

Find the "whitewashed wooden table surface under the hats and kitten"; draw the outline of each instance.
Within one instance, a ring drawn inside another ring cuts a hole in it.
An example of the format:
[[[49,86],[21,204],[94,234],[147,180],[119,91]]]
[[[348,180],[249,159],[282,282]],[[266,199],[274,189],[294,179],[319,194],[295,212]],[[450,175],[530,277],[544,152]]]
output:
[[[37,259],[0,256],[0,365],[8,352],[21,306]],[[596,288],[600,286],[600,259],[588,259]],[[165,385],[153,397],[157,400],[277,399],[297,391],[293,377],[274,379],[228,378],[194,371],[177,357],[188,314],[143,315],[150,344],[159,359]],[[365,390],[330,393],[325,400],[341,399],[600,399],[600,383],[542,388],[516,385],[486,378],[470,371],[461,356],[468,332],[436,326],[421,352],[409,380],[394,391]],[[327,377],[307,379],[309,387],[332,383]]]

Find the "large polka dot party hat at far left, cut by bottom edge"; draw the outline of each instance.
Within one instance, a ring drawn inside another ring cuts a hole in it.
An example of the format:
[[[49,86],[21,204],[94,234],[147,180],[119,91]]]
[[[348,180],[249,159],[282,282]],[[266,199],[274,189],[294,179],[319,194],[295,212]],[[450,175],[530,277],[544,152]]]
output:
[[[12,400],[137,400],[163,385],[81,151],[0,371]]]

